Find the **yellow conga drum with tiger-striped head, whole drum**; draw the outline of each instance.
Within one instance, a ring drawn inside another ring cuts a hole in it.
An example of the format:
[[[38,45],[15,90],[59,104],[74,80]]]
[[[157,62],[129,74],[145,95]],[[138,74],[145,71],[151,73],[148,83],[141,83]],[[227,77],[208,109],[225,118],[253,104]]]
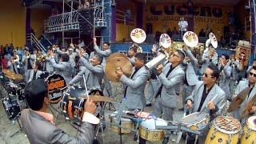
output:
[[[210,127],[205,143],[237,144],[241,130],[242,126],[237,119],[229,116],[218,116]]]

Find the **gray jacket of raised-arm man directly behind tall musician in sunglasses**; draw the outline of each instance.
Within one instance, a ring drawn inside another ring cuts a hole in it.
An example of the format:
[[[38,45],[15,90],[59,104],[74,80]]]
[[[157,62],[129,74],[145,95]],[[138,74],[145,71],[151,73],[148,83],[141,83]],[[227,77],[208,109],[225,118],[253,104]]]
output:
[[[184,51],[186,56],[190,58],[190,62],[184,68],[186,69],[186,81],[190,86],[194,86],[198,83],[198,77],[196,75],[196,71],[198,70],[198,61],[194,58],[194,55],[191,53],[189,49]]]

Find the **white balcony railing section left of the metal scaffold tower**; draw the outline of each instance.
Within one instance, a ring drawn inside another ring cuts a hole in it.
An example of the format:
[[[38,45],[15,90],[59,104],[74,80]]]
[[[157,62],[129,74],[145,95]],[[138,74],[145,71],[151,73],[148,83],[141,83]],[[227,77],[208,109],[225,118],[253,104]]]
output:
[[[47,29],[47,28],[52,28],[52,27],[77,24],[78,23],[78,15],[79,14],[77,11],[71,11],[71,12],[51,16],[49,19],[46,19],[45,27]]]

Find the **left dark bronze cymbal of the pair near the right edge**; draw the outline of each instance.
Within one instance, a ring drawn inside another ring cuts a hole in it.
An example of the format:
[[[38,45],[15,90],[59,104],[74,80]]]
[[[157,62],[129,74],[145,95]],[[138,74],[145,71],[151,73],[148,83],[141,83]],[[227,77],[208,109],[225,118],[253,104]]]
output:
[[[238,109],[241,103],[246,99],[247,94],[249,94],[250,87],[246,87],[242,90],[230,103],[229,108],[226,110],[228,113]]]

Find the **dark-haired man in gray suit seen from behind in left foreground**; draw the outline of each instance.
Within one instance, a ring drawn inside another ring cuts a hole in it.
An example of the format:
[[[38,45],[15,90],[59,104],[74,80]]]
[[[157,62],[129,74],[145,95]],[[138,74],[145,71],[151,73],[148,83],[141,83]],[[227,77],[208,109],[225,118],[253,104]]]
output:
[[[98,118],[94,116],[96,106],[90,99],[84,105],[85,113],[82,125],[79,127],[81,134],[71,136],[54,125],[54,116],[47,113],[49,106],[48,86],[43,79],[29,82],[25,87],[26,102],[30,109],[22,110],[22,130],[31,144],[40,143],[81,143],[91,144],[94,140],[94,125]]]

